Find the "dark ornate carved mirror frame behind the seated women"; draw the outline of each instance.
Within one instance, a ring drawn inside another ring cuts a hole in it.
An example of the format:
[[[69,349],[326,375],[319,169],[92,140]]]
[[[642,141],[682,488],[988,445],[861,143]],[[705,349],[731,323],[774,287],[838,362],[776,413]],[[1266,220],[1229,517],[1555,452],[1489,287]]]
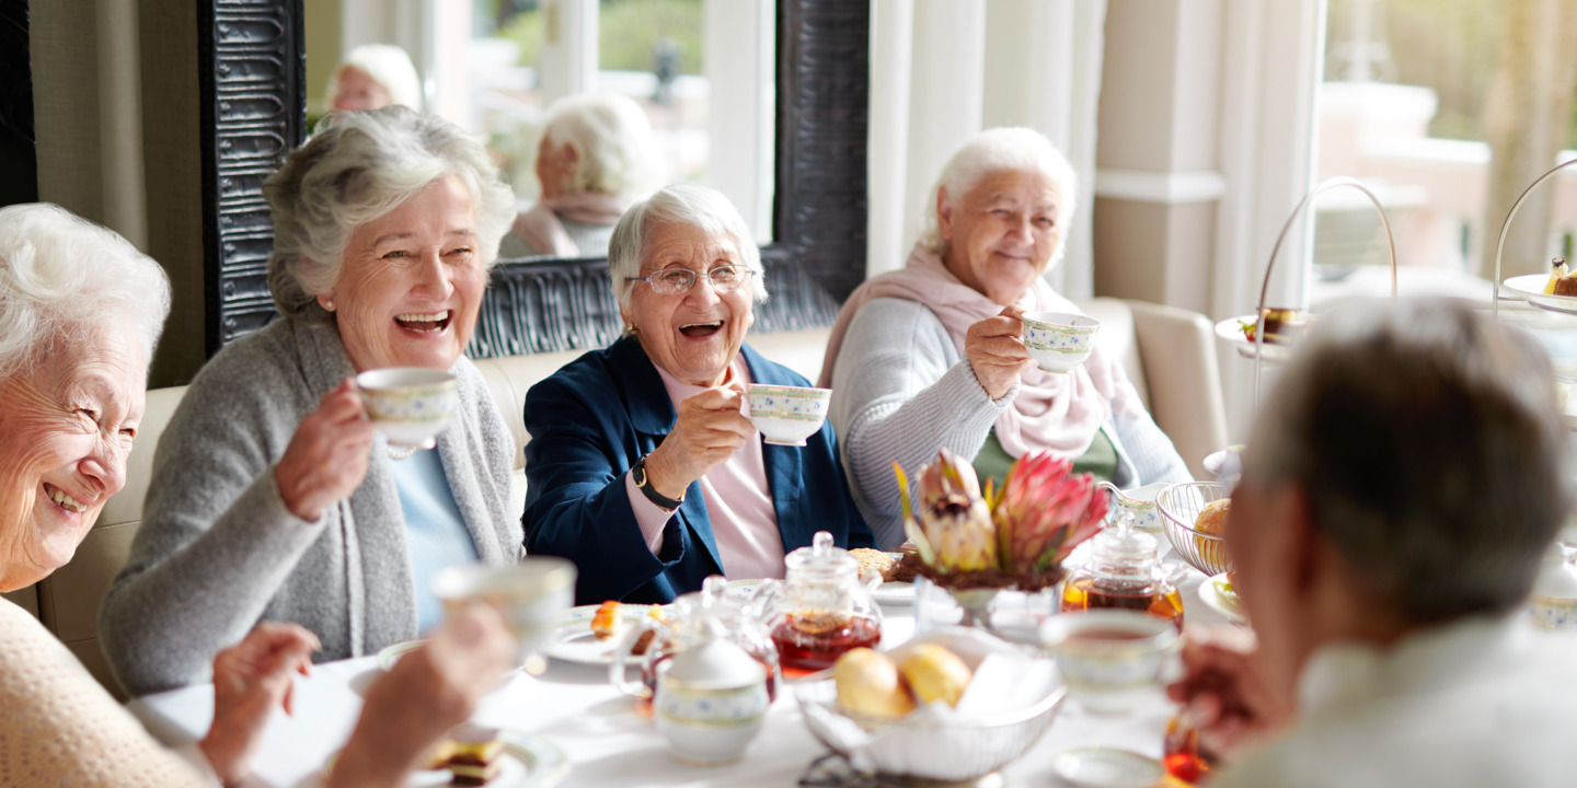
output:
[[[208,351],[274,317],[262,181],[306,132],[303,0],[200,3]],[[777,184],[757,331],[830,325],[864,279],[871,5],[777,2]],[[506,260],[478,358],[598,347],[620,331],[607,260]]]

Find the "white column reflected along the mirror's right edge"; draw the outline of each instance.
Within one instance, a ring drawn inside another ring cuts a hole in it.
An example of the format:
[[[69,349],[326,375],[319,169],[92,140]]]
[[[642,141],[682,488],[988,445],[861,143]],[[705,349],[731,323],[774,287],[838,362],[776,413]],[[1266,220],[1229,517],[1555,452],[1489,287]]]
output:
[[[702,8],[706,184],[733,202],[759,243],[771,243],[777,11],[771,0],[705,0]]]

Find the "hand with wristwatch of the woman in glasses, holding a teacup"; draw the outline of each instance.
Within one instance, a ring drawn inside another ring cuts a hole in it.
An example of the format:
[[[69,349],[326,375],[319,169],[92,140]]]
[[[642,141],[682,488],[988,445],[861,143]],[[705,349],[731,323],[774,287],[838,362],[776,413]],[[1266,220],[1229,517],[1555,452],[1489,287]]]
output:
[[[678,498],[691,482],[733,457],[755,435],[743,407],[744,391],[736,385],[706,389],[680,402],[673,432],[647,457],[653,489],[664,498]]]

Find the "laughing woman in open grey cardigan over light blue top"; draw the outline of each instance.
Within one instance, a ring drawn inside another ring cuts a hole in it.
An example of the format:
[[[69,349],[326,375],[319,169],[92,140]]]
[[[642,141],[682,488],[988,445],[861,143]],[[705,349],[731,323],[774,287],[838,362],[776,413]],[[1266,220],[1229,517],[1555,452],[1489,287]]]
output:
[[[514,213],[484,148],[404,107],[334,115],[265,192],[284,317],[186,391],[99,611],[132,693],[207,681],[263,618],[312,630],[319,660],[377,652],[438,621],[440,569],[520,555],[514,441],[460,355]],[[355,374],[378,367],[456,375],[437,451],[374,432]]]

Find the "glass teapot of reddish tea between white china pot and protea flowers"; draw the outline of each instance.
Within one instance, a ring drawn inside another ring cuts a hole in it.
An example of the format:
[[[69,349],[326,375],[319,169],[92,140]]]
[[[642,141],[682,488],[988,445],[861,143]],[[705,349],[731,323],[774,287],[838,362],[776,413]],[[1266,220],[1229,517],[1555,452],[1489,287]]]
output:
[[[826,531],[788,553],[784,564],[785,578],[768,580],[755,594],[784,670],[830,668],[852,648],[877,646],[882,608],[871,589],[880,575],[861,582],[859,561],[834,547]]]

